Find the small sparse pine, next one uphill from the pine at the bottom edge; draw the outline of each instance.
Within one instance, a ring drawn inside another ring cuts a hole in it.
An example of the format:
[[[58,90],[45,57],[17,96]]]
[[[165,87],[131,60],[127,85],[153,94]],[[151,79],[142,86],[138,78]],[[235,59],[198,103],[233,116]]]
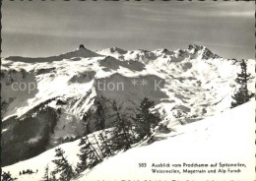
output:
[[[92,168],[98,162],[101,161],[100,156],[96,152],[88,136],[81,138],[79,146],[81,147],[80,148],[81,153],[78,154],[80,162],[77,165],[77,172],[82,172],[87,168]]]

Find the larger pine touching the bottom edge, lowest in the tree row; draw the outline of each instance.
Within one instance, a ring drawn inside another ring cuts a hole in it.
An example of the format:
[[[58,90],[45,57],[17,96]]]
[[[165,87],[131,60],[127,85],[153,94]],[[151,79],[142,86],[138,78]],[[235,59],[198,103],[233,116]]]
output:
[[[57,159],[52,160],[52,162],[56,164],[54,173],[60,173],[59,180],[70,181],[71,178],[75,176],[75,173],[72,166],[69,164],[68,160],[64,156],[65,151],[60,148],[56,149],[55,151],[55,156],[57,157]]]

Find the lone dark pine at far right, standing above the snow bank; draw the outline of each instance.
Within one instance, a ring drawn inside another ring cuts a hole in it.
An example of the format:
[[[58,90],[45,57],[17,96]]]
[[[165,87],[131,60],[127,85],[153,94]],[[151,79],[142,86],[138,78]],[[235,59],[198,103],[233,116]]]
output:
[[[234,95],[232,95],[234,101],[231,102],[231,107],[243,104],[249,101],[249,99],[253,96],[253,94],[247,89],[247,84],[251,79],[251,74],[247,73],[247,65],[243,59],[240,63],[240,67],[241,73],[238,73],[237,78],[235,79],[235,82],[239,84],[240,88],[234,93]]]

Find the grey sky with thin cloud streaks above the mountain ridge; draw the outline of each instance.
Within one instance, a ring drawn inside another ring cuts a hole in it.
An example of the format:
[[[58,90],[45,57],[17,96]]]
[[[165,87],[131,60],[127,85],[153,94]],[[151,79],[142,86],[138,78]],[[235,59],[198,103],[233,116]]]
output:
[[[2,4],[2,56],[50,56],[81,43],[96,50],[187,48],[254,58],[254,2],[9,1]]]

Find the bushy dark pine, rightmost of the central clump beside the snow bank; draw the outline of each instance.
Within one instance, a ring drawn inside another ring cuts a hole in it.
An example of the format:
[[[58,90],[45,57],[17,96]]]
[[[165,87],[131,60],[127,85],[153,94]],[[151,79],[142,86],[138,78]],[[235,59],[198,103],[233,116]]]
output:
[[[151,112],[151,108],[154,106],[155,102],[145,97],[137,109],[138,113],[134,118],[134,122],[136,124],[135,131],[139,135],[139,139],[143,139],[145,136],[150,137],[153,134],[152,130],[160,123],[160,116]]]

